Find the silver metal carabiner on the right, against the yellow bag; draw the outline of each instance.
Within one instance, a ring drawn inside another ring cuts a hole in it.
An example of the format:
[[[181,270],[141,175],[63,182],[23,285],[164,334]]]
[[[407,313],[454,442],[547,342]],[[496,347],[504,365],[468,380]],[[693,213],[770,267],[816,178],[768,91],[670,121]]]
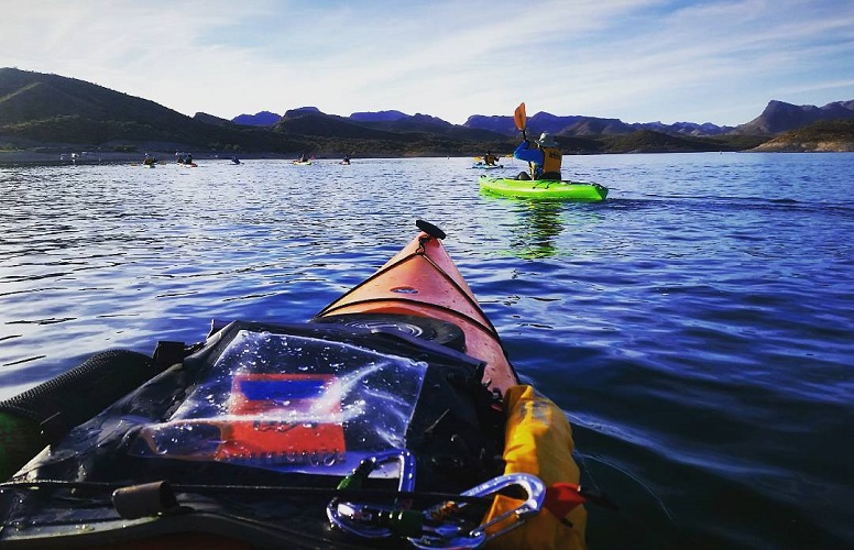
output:
[[[546,485],[535,475],[523,473],[502,475],[461,493],[461,496],[491,496],[497,494],[499,491],[513,485],[522,487],[527,494],[526,498],[518,507],[493,518],[486,524],[481,524],[474,529],[469,529],[468,531],[462,527],[462,524],[451,525],[450,522],[445,522],[438,526],[426,525],[425,531],[428,532],[425,532],[425,535],[419,538],[408,537],[409,542],[415,548],[425,550],[479,548],[495,537],[500,537],[505,532],[522,526],[522,524],[530,516],[538,514],[539,510],[543,509],[543,502],[546,498]],[[459,503],[456,507],[457,509],[462,509],[468,504],[469,503]],[[435,506],[429,510],[426,510],[425,515],[429,516],[431,512],[440,509],[441,506],[442,505]],[[510,517],[515,518],[511,525],[503,527],[495,532],[486,534],[486,530],[490,527]]]

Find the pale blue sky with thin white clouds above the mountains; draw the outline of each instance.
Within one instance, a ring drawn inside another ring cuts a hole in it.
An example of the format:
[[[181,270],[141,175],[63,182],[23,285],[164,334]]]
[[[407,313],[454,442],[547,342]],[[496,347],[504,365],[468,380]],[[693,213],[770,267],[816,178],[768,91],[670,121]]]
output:
[[[854,99],[854,0],[32,0],[0,67],[193,116],[313,106],[735,125]]]

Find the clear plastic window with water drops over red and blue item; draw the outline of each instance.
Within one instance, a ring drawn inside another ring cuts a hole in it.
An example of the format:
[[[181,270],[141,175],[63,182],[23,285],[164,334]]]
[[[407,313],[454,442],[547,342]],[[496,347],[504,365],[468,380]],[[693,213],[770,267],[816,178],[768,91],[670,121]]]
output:
[[[355,345],[241,330],[133,454],[346,475],[405,448],[427,364]]]

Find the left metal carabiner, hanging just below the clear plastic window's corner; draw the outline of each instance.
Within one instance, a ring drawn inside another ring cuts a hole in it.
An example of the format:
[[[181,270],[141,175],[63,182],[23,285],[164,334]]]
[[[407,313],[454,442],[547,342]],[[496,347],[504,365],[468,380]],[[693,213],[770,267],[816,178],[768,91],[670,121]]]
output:
[[[362,460],[353,471],[363,472],[365,476],[384,464],[399,463],[399,482],[397,491],[410,493],[415,488],[415,457],[407,450],[394,450]],[[392,508],[388,507],[387,510]],[[377,526],[379,515],[385,509],[377,505],[340,502],[333,498],[326,507],[326,515],[332,528],[339,528],[347,532],[368,539],[391,537],[390,527]]]

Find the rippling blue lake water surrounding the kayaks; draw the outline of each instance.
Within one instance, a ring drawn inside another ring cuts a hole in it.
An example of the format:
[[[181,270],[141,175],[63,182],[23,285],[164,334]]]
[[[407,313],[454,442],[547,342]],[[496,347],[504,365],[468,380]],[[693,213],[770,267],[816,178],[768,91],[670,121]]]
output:
[[[482,196],[470,165],[0,167],[0,398],[306,320],[424,218],[620,505],[591,548],[854,546],[853,154],[566,157],[598,205]]]

